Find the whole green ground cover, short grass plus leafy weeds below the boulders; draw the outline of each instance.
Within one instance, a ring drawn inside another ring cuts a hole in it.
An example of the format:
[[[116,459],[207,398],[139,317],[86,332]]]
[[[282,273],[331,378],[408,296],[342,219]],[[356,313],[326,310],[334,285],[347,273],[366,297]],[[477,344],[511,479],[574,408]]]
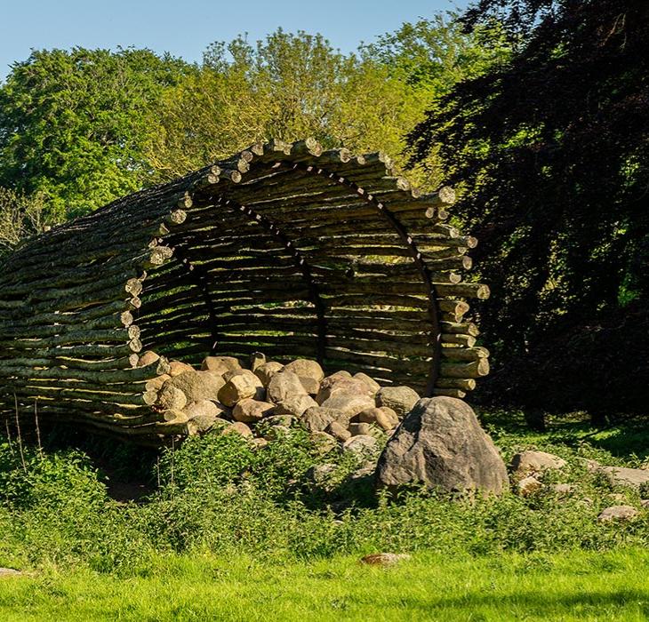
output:
[[[519,412],[485,413],[504,459],[534,448],[568,463],[538,494],[498,499],[374,498],[371,482],[346,483],[356,459],[323,458],[296,431],[260,452],[219,435],[153,460],[93,448],[159,482],[125,502],[74,445],[18,451],[0,438],[0,566],[24,571],[0,578],[0,622],[649,620],[649,491],[583,465],[647,466],[649,434],[644,422],[597,432],[582,419],[533,433]],[[323,461],[337,465],[331,490],[310,479]],[[554,494],[556,482],[573,492]],[[637,519],[597,521],[619,503]],[[380,551],[412,558],[359,562]]]

